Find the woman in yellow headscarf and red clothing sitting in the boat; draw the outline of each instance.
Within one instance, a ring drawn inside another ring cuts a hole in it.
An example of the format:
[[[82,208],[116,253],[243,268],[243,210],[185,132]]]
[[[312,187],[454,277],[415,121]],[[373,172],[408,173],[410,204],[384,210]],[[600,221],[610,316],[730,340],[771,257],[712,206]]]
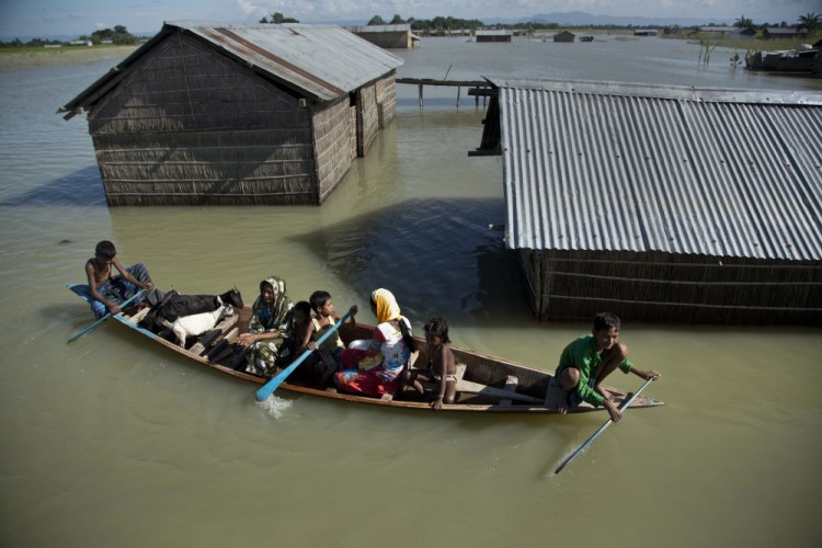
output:
[[[347,350],[343,353],[343,362],[353,368],[339,372],[334,381],[340,390],[346,392],[392,395],[400,387],[402,370],[416,344],[411,336],[411,323],[400,315],[400,307],[391,292],[380,288],[372,293],[372,311],[377,317],[378,326],[374,328],[368,350]],[[378,357],[379,364],[361,372],[357,363],[365,356]]]

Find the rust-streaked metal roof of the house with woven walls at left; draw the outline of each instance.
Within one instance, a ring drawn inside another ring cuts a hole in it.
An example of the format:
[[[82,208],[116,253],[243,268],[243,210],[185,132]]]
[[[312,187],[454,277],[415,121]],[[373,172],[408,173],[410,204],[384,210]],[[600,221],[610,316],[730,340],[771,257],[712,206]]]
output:
[[[195,36],[264,78],[319,102],[346,95],[404,62],[340,26],[169,22],[60,112],[96,104],[141,57],[175,33]],[[345,62],[340,62],[341,55]]]

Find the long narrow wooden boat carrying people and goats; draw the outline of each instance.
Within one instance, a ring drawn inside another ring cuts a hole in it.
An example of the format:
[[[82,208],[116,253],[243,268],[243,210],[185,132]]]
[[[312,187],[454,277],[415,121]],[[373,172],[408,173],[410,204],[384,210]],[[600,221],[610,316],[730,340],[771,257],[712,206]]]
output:
[[[71,288],[71,285],[69,285]],[[244,362],[238,363],[238,353],[233,343],[240,333],[248,331],[251,307],[235,309],[235,315],[219,322],[213,331],[192,341],[186,347],[178,345],[170,333],[153,333],[139,326],[140,320],[149,312],[144,308],[129,315],[127,311],[112,318],[126,328],[140,333],[155,344],[176,352],[194,363],[210,367],[226,375],[262,385],[266,378],[244,372]],[[370,339],[373,327],[357,323],[354,329],[341,329],[340,335],[345,344],[358,339]],[[421,339],[416,338],[422,342]],[[457,401],[443,406],[446,412],[483,412],[483,413],[559,413],[556,407],[546,402],[548,381],[552,373],[509,362],[507,359],[488,356],[466,349],[452,346],[458,364]],[[413,356],[412,356],[413,362]],[[299,372],[299,367],[297,369]],[[429,387],[432,390],[435,387]],[[338,392],[334,388],[316,388],[310,383],[302,383],[293,374],[277,390],[307,393],[331,400],[368,403],[374,406],[431,410],[429,402],[432,396],[420,395],[411,388],[403,388],[391,396],[372,398]],[[608,388],[618,404],[630,398],[631,392]],[[249,393],[252,398],[253,395]],[[631,408],[664,406],[664,402],[638,396]],[[570,413],[587,412],[604,408],[594,408],[583,403]]]

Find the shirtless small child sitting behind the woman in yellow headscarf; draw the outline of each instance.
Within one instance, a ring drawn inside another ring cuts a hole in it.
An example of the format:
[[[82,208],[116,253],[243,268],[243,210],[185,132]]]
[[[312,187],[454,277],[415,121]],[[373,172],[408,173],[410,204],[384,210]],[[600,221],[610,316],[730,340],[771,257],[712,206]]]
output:
[[[423,330],[425,345],[420,349],[414,368],[406,370],[404,380],[420,393],[425,393],[421,380],[438,381],[437,396],[431,407],[439,410],[443,403],[454,403],[457,393],[457,364],[448,347],[448,321],[445,318],[431,318]]]

